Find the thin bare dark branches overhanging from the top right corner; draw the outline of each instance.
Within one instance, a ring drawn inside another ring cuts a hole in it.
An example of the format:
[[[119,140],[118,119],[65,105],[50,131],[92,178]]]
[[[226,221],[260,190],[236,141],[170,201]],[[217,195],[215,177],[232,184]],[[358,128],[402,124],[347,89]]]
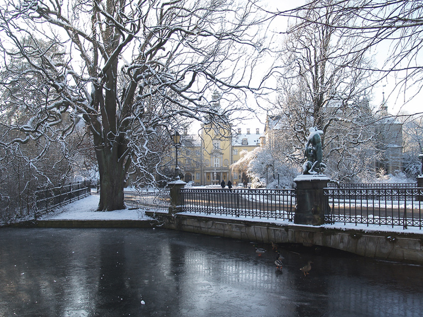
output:
[[[322,12],[319,18],[307,14],[312,9]],[[346,16],[346,23],[333,23],[324,19],[324,12],[328,10]],[[294,17],[298,21],[287,30],[288,33],[310,26],[336,30],[340,36],[355,43],[343,54],[357,56],[369,51],[377,53],[379,63],[356,67],[377,75],[371,85],[382,80],[394,81],[397,91],[403,94],[400,100],[403,104],[421,92],[423,65],[419,52],[423,45],[422,1],[310,0],[305,5],[274,14]]]

